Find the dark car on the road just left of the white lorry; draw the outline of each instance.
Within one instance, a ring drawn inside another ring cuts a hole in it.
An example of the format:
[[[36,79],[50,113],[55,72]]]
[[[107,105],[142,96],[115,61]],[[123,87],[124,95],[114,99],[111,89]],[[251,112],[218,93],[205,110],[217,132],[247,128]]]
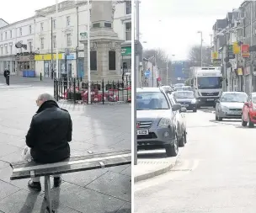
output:
[[[173,98],[187,110],[197,111],[197,102],[193,91],[176,91],[173,93]]]

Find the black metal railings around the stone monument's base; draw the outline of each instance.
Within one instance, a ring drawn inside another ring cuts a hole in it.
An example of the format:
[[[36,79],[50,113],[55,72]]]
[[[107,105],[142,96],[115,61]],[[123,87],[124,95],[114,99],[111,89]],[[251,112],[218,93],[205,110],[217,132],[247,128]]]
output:
[[[54,97],[88,104],[88,85],[91,86],[91,103],[131,102],[131,78],[123,81],[88,82],[83,78],[61,77],[54,79]]]

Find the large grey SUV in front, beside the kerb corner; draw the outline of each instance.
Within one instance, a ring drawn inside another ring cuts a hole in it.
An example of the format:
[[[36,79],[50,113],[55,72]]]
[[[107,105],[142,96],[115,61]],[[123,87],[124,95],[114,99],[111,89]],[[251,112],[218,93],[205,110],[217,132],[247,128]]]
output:
[[[163,88],[137,88],[137,149],[165,148],[168,157],[177,156],[183,135],[176,115],[179,110],[185,109],[171,104]]]

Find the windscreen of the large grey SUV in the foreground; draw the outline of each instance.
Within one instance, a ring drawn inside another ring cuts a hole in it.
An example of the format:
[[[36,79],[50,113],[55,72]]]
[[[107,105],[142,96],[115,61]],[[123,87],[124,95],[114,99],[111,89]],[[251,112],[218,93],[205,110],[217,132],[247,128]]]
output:
[[[136,94],[137,110],[170,109],[168,100],[161,92],[145,92]]]

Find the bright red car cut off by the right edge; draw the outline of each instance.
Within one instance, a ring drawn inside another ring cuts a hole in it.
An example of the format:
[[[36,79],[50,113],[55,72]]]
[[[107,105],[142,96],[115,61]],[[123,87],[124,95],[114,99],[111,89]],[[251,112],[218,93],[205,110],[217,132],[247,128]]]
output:
[[[248,97],[248,102],[243,104],[242,110],[242,125],[250,128],[256,124],[256,93],[251,93]]]

